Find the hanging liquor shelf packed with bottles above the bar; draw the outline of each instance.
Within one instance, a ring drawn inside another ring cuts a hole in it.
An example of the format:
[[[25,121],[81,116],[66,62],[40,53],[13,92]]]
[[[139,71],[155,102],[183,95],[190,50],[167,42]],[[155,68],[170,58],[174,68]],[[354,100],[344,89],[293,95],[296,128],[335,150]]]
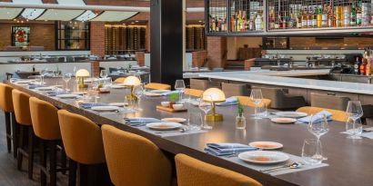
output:
[[[206,0],[207,35],[373,32],[371,0]]]

